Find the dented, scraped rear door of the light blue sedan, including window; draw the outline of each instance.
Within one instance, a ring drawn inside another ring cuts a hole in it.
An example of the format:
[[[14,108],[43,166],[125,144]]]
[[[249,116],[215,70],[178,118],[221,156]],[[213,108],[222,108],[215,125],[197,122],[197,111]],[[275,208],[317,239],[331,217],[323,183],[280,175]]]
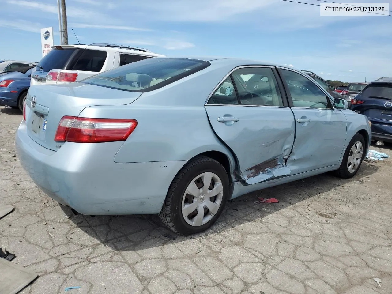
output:
[[[244,79],[252,77],[252,71],[239,73],[236,76],[243,76]],[[269,71],[261,76],[268,73]],[[274,104],[272,97],[267,96],[266,99],[257,101],[245,99],[250,88],[267,89],[268,87],[264,87],[265,80],[269,79],[270,82],[276,83],[274,76],[264,77],[264,81],[260,82],[259,77],[254,78],[256,81],[249,79],[249,89],[245,89],[245,85],[241,86],[245,81],[236,80],[235,74],[236,71],[214,91],[205,109],[212,129],[236,156],[236,174],[249,185],[289,175],[290,169],[285,162],[294,143],[292,111],[289,107],[283,106],[281,100],[275,101],[278,105],[250,104]],[[236,84],[237,91],[233,84]],[[277,87],[274,93],[270,94],[281,99]]]

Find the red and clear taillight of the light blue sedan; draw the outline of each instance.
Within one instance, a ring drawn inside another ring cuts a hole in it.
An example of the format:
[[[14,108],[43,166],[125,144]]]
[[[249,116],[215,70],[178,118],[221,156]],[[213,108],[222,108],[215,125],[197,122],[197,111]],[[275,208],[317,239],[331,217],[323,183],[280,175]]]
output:
[[[137,124],[136,120],[64,116],[60,120],[54,141],[76,143],[125,141]]]

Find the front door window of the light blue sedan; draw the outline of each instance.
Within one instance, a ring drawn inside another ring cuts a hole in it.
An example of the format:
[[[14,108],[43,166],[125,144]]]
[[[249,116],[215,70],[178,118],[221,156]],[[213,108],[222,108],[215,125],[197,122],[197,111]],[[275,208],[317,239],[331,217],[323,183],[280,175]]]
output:
[[[294,107],[328,108],[327,95],[314,82],[294,71],[281,69],[281,72]]]

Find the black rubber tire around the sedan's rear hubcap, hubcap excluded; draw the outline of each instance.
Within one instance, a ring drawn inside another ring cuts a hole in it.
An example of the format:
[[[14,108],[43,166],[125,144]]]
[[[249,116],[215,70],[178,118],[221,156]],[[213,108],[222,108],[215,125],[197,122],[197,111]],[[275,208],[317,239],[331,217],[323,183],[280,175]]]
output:
[[[203,172],[216,174],[223,186],[223,197],[216,214],[207,223],[200,226],[189,225],[183,218],[181,205],[182,199],[191,181]],[[225,168],[216,160],[209,157],[197,157],[185,165],[172,181],[162,211],[159,214],[162,222],[173,232],[180,235],[190,235],[203,232],[219,218],[227,198],[229,197],[229,177]]]

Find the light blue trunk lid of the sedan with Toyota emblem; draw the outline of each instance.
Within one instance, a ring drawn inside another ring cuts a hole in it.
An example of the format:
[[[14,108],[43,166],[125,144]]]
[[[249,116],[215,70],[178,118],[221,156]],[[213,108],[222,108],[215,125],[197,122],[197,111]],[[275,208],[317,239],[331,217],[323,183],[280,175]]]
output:
[[[56,151],[62,142],[55,142],[54,135],[63,116],[78,116],[89,106],[129,104],[141,94],[83,83],[31,86],[25,107],[27,133],[36,143]]]

